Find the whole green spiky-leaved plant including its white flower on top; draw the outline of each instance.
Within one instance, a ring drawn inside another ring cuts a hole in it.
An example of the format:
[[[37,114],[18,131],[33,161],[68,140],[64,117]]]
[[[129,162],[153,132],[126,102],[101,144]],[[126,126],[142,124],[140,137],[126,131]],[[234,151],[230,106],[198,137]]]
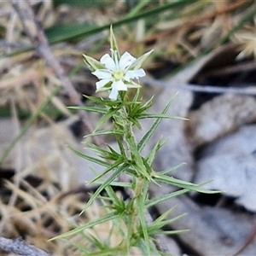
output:
[[[99,119],[95,131],[89,136],[113,135],[116,137],[119,150],[114,150],[109,145],[107,145],[108,148],[106,149],[94,144],[88,144],[91,149],[102,156],[101,159],[82,154],[74,148],[71,148],[74,153],[79,154],[84,159],[105,167],[104,172],[90,182],[99,184],[99,187],[96,189],[96,192],[91,195],[83,212],[86,212],[89,207],[92,207],[94,201],[101,201],[102,207],[108,209],[108,211],[101,218],[92,220],[82,227],[79,226],[55,238],[64,238],[80,232],[86,232],[86,230],[94,229],[97,225],[104,222],[112,221],[113,224],[118,223],[119,238],[121,241],[112,247],[110,242],[111,237],[109,237],[107,241],[100,241],[94,236],[89,237],[92,246],[91,248],[83,248],[86,255],[125,255],[130,253],[132,247],[140,248],[143,255],[152,255],[152,253],[155,255],[163,255],[162,252],[158,251],[158,246],[154,246],[155,236],[168,234],[168,231],[161,230],[161,228],[171,223],[172,218],[166,219],[170,213],[168,211],[152,221],[152,223],[148,223],[146,218],[148,208],[154,207],[162,201],[171,199],[173,196],[183,195],[190,190],[205,193],[216,192],[205,191],[201,189],[201,185],[183,182],[177,178],[170,177],[168,173],[172,172],[176,167],[163,170],[162,172],[154,172],[154,156],[164,143],[156,143],[151,152],[146,156],[143,156],[141,152],[150,137],[153,136],[161,119],[180,118],[166,115],[172,103],[172,99],[162,113],[154,114],[147,112],[148,108],[152,106],[153,97],[145,103],[139,98],[140,84],[138,84],[137,80],[145,75],[141,66],[148,58],[148,55],[152,53],[152,50],[137,59],[127,52],[120,55],[112,27],[110,28],[110,44],[111,54],[103,55],[100,61],[96,61],[92,57],[84,55],[86,66],[89,67],[92,74],[99,79],[99,81],[96,82],[96,92],[102,90],[108,91],[109,100],[86,96],[90,101],[94,102],[94,107],[70,107],[102,114],[102,118]],[[134,80],[136,80],[136,82]],[[131,100],[126,94],[129,88],[137,89],[135,96]],[[137,142],[133,129],[135,127],[142,129],[139,120],[145,118],[153,118],[155,121],[144,134],[143,138]],[[100,127],[108,119],[113,120],[113,128],[111,130],[100,131]],[[107,173],[108,177],[104,178]],[[129,177],[130,182],[120,182],[119,177],[122,174]],[[160,195],[157,198],[148,198],[150,183],[154,183],[158,186],[160,186],[160,183],[166,183],[167,185],[176,186],[179,190],[174,192],[174,194],[171,193]],[[114,193],[113,186],[120,187],[121,189],[129,189],[129,191],[131,191],[131,193],[129,193],[131,198],[126,201],[119,198]],[[102,191],[105,191],[107,195],[102,196]],[[177,217],[175,219],[177,219]]]

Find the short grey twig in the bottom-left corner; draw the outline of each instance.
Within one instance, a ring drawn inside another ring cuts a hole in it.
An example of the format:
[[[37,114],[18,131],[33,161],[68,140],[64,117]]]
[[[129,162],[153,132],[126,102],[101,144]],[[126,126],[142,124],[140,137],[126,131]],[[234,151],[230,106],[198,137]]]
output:
[[[8,239],[0,236],[0,248],[3,251],[17,253],[19,255],[33,256],[51,256],[52,254],[45,253],[43,250],[29,245],[21,237]]]

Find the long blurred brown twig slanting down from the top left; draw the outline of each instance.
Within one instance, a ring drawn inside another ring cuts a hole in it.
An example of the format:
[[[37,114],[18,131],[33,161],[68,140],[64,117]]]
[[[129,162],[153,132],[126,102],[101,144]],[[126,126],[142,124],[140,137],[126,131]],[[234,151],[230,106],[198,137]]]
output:
[[[38,54],[45,59],[49,67],[52,68],[52,70],[61,80],[61,84],[64,90],[67,92],[72,104],[82,106],[83,103],[81,102],[79,93],[73,88],[73,84],[71,83],[70,79],[67,78],[67,75],[64,69],[61,67],[60,62],[56,60],[55,55],[49,48],[48,40],[32,10],[31,3],[28,0],[12,0],[12,5],[18,13],[24,32],[26,32],[27,37],[30,38],[33,47],[38,51]],[[87,113],[84,111],[79,111],[79,117],[82,120],[85,129],[88,132],[92,132],[93,128]],[[102,144],[97,137],[94,137],[94,142],[97,145]]]

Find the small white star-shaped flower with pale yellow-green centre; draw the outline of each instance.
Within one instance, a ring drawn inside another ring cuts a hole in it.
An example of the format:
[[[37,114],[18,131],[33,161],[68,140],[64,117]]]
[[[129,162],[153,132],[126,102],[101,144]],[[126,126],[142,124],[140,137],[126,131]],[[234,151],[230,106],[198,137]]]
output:
[[[96,82],[96,91],[109,90],[109,98],[116,100],[119,95],[119,90],[127,90],[131,87],[139,87],[132,79],[139,79],[145,76],[143,68],[135,69],[134,64],[137,59],[130,53],[125,52],[119,57],[117,50],[112,51],[112,56],[103,55],[100,62],[103,67],[96,69],[93,74],[100,79]]]

